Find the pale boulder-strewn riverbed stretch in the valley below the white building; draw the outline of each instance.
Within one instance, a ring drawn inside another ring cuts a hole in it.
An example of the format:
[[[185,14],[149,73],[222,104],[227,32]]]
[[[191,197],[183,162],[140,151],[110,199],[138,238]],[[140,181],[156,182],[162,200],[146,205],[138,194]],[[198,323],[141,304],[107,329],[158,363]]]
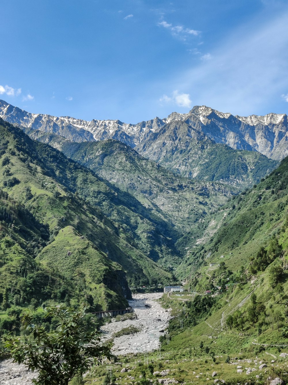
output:
[[[129,301],[133,311],[137,315],[136,320],[125,320],[104,325],[101,328],[103,339],[109,339],[117,331],[135,326],[141,331],[131,335],[114,338],[112,353],[125,355],[127,353],[150,352],[159,346],[159,337],[164,335],[168,327],[170,310],[164,310],[158,302],[162,293],[135,294],[133,300]]]

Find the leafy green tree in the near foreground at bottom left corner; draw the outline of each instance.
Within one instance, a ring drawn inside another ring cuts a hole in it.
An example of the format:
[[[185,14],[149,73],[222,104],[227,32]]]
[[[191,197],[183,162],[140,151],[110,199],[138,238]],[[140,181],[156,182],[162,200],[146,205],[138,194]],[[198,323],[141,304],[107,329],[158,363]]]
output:
[[[48,333],[45,327],[34,325],[32,315],[22,316],[28,337],[24,339],[11,334],[3,336],[4,352],[14,362],[24,363],[30,370],[38,370],[38,385],[68,385],[81,376],[102,357],[109,357],[108,346],[99,344],[98,331],[88,331],[83,317],[88,305],[79,311],[64,305],[51,306],[45,318],[55,318],[58,323]]]

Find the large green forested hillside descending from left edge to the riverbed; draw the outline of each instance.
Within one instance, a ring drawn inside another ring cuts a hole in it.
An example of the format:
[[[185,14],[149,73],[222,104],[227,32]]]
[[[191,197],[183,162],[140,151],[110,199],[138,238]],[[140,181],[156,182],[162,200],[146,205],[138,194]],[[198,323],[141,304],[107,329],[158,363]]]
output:
[[[160,267],[172,269],[179,258],[169,224],[3,121],[0,138],[3,309],[77,295],[91,297],[94,308],[114,308],[126,305],[128,282],[173,281]]]

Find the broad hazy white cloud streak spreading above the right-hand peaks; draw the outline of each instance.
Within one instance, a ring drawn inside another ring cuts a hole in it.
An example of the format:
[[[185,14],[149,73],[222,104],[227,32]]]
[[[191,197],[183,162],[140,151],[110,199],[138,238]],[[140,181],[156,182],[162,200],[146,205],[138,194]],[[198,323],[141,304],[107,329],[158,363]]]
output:
[[[288,101],[287,23],[288,12],[282,12],[269,22],[242,25],[199,64],[175,75],[172,87],[193,90],[196,104],[232,114],[277,109],[280,95]]]

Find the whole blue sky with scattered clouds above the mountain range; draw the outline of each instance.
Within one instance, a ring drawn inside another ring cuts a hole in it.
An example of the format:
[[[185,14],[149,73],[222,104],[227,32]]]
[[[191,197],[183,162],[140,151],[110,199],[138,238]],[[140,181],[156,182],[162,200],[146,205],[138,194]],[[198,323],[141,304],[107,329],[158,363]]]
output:
[[[136,123],[205,104],[288,112],[286,0],[10,0],[0,99]]]

